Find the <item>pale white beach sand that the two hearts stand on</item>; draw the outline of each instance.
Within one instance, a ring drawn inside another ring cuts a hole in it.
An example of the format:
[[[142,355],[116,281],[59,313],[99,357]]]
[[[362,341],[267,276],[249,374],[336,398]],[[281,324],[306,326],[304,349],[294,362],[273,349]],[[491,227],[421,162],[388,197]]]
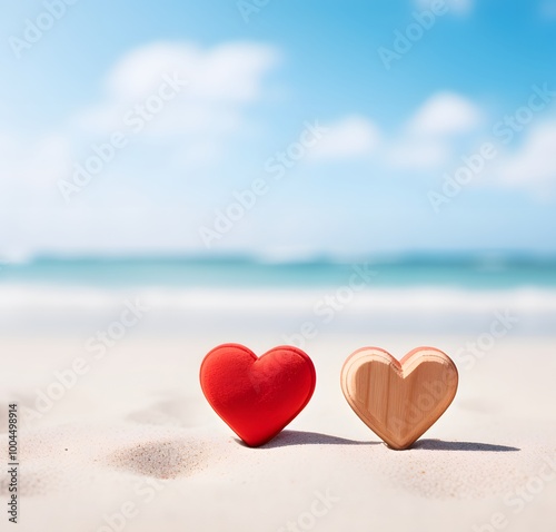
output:
[[[370,341],[347,334],[307,346],[317,391],[298,418],[264,447],[240,444],[206,404],[199,364],[221,342],[260,353],[275,339],[136,334],[90,359],[42,417],[21,414],[19,525],[9,529],[2,512],[1,530],[555,530],[554,338],[508,336],[473,368],[459,364],[454,404],[401,452],[379,443],[341,395],[344,359]],[[454,354],[468,338],[371,339],[401,356],[420,344]],[[0,353],[2,433],[8,403],[33,407],[53,371],[85,356],[77,336],[4,337]],[[493,519],[497,529],[480,529]]]

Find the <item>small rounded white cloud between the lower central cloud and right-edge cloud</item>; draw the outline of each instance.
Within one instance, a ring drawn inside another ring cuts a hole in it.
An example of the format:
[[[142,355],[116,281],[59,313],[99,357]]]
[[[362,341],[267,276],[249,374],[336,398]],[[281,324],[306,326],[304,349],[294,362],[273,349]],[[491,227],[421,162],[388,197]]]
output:
[[[453,92],[438,92],[417,110],[407,125],[410,135],[455,135],[468,132],[481,121],[479,108]]]

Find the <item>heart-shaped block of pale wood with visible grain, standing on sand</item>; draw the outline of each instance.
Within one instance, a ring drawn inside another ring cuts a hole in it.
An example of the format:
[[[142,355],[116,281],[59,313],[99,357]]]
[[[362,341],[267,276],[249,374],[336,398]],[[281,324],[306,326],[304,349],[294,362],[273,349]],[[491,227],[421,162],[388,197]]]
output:
[[[353,353],[341,391],[361,421],[393,449],[407,449],[444,414],[457,391],[451,358],[418,347],[397,361],[379,347]]]

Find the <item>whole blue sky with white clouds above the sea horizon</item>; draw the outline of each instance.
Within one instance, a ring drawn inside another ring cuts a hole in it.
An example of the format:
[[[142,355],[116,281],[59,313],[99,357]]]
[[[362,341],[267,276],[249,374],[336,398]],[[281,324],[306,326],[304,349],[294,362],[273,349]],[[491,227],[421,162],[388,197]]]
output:
[[[258,4],[4,6],[0,254],[556,252],[556,1]]]

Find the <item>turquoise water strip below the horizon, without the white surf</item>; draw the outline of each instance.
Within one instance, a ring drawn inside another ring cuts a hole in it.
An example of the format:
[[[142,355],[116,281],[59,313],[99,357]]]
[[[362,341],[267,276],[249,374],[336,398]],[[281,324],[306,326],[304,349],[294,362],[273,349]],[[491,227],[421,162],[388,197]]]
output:
[[[475,289],[556,287],[556,258],[404,257],[350,264],[329,260],[265,263],[251,258],[39,258],[2,264],[0,284],[131,287],[335,286],[358,266],[376,287],[441,286]]]

